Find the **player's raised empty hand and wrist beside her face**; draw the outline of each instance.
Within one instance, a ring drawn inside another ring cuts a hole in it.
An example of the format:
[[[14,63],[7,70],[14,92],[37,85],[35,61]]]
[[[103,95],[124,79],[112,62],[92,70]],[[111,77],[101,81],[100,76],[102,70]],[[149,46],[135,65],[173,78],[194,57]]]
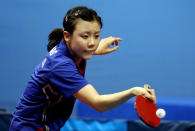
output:
[[[108,37],[102,39],[99,43],[97,50],[95,51],[94,55],[104,55],[111,53],[119,48],[118,41],[122,40],[121,38],[116,37]],[[111,45],[113,45],[111,47]]]

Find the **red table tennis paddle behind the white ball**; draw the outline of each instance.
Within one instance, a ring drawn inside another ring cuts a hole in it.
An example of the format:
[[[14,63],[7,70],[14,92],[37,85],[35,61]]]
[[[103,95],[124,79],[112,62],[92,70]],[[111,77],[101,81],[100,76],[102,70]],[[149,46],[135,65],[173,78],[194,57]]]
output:
[[[144,88],[150,88],[150,85],[144,85]],[[140,119],[150,127],[157,127],[160,125],[160,118],[156,116],[157,107],[147,98],[138,95],[135,98],[134,104],[137,115]]]

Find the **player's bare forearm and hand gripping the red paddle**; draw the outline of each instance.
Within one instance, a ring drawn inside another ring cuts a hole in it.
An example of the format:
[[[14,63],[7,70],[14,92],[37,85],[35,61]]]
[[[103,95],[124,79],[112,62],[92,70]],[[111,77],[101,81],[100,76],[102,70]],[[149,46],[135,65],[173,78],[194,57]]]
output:
[[[99,95],[95,88],[88,84],[76,92],[74,97],[84,102],[85,104],[88,104],[99,112],[105,112],[107,110],[118,107],[133,96],[137,95],[142,95],[152,100],[154,104],[156,103],[154,90],[145,89],[142,87],[134,87],[114,94]]]

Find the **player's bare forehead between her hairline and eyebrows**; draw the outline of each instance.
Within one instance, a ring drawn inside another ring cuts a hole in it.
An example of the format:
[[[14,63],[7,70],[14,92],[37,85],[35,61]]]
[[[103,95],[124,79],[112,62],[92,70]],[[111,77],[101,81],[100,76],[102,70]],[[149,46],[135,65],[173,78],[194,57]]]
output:
[[[76,22],[74,32],[99,32],[100,24],[97,21],[85,21],[79,19]]]

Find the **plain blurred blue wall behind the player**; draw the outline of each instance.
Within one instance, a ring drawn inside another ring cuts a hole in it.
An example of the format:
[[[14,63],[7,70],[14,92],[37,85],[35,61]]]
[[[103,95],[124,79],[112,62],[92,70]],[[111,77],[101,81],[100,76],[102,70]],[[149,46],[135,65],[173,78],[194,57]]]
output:
[[[123,39],[116,52],[87,63],[86,79],[100,94],[148,83],[164,104],[195,106],[194,0],[1,0],[0,108],[14,111],[48,34],[79,5],[102,17],[101,38]]]

